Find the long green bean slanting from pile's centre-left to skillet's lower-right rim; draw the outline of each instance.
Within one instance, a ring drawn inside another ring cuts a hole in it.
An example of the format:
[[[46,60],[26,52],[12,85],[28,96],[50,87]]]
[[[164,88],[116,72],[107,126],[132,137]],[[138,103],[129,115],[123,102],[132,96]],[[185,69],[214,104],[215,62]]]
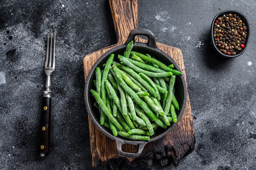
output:
[[[119,81],[120,85],[124,88],[124,90],[130,94],[130,96],[132,96],[132,98],[135,99],[135,102],[141,106],[141,108],[146,112],[146,114],[148,114],[148,116],[155,121],[160,127],[162,128],[166,128],[166,125],[160,120],[158,119],[155,114],[153,114],[153,112],[150,111],[150,109],[146,106],[145,102],[141,100],[141,98],[139,98],[139,96],[128,86],[126,85],[126,83],[124,82],[120,72],[118,71],[117,68],[113,69],[114,72],[116,73],[114,75],[117,76],[117,80]],[[146,123],[146,122],[145,122]],[[149,131],[150,132],[150,131]],[[151,132],[150,132],[151,134]]]

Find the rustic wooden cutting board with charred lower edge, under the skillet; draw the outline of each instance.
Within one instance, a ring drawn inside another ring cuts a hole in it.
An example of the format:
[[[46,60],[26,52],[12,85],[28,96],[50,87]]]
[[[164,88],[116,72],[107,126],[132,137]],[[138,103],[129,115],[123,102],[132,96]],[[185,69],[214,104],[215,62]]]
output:
[[[92,65],[97,59],[106,51],[124,44],[130,31],[138,26],[137,0],[109,0],[109,3],[117,34],[117,44],[105,47],[85,56],[83,59],[85,80]],[[145,42],[146,40],[137,38],[137,41]],[[182,51],[178,48],[164,45],[159,42],[157,42],[157,47],[175,60],[182,70],[186,80]],[[163,138],[146,144],[138,158],[120,157],[117,154],[115,141],[105,136],[94,125],[90,116],[88,116],[88,120],[93,167],[101,165],[106,169],[121,169],[121,166],[124,166],[124,164],[127,163],[133,167],[139,166],[151,169],[153,159],[159,160],[161,166],[167,166],[171,163],[173,163],[174,166],[178,166],[184,155],[195,148],[195,130],[191,114],[189,94],[187,96],[185,113],[180,122]],[[125,144],[123,150],[126,152],[137,152],[137,146]]]

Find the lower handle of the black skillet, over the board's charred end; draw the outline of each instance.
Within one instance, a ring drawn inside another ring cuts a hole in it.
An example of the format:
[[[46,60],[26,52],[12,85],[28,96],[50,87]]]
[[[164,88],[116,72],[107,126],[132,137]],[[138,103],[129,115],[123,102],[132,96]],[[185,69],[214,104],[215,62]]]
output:
[[[141,154],[142,150],[144,149],[144,146],[146,145],[146,143],[138,143],[138,152],[137,153],[130,153],[130,152],[124,152],[122,151],[122,145],[125,144],[122,141],[117,141],[117,153],[121,156],[121,157],[130,157],[130,158],[135,158],[135,157],[139,157],[139,155]]]

